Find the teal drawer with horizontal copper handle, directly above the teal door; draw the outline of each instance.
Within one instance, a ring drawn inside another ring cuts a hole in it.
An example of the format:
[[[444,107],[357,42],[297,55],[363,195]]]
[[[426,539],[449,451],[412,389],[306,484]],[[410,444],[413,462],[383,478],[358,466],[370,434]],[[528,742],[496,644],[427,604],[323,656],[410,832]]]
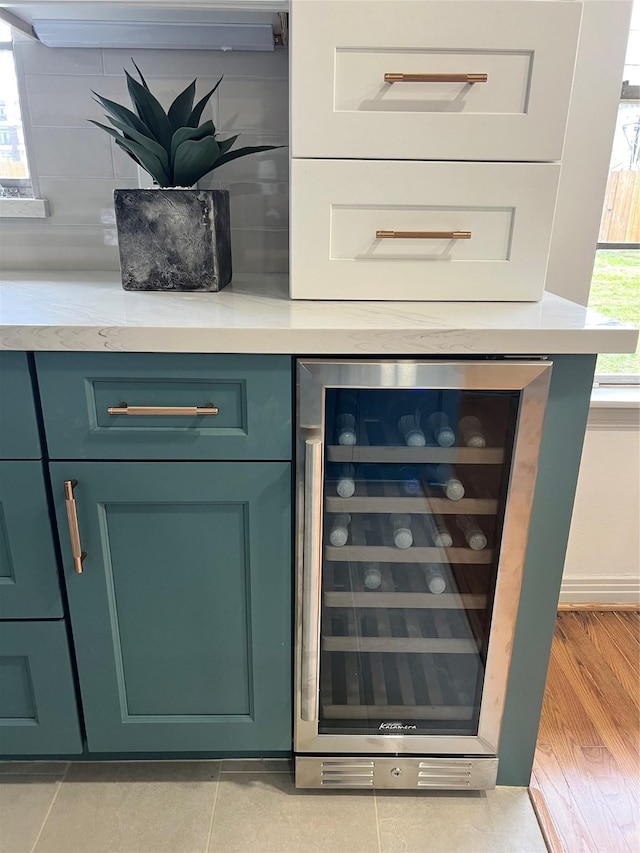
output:
[[[36,365],[52,459],[291,458],[288,356],[56,352]]]

